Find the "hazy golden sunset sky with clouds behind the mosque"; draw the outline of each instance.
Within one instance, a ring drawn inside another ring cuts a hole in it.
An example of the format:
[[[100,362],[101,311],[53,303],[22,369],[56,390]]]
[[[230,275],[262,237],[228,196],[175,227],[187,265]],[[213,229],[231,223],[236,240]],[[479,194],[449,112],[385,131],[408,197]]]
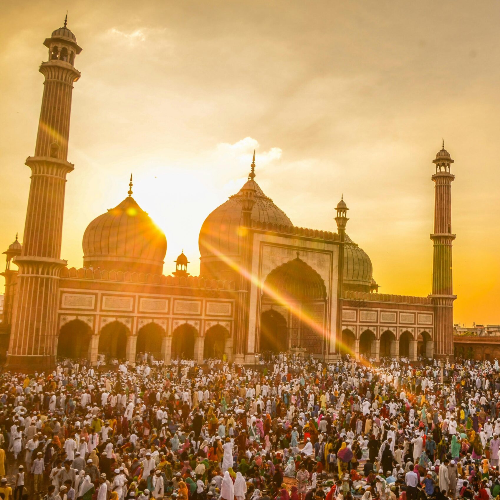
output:
[[[349,236],[381,292],[431,286],[431,163],[452,173],[454,321],[500,323],[500,3],[483,0],[28,0],[2,4],[0,248],[22,235],[46,60],[62,25],[75,67],[61,257],[128,190],[199,271],[204,218],[247,175],[297,226]],[[20,238],[22,240],[22,238]]]

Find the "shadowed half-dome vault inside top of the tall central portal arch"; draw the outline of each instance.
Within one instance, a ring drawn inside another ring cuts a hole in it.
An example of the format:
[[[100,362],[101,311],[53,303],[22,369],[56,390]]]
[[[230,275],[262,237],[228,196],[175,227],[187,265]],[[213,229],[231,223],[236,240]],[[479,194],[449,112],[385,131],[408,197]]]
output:
[[[297,256],[267,275],[264,295],[280,301],[323,300],[326,288],[321,276]]]

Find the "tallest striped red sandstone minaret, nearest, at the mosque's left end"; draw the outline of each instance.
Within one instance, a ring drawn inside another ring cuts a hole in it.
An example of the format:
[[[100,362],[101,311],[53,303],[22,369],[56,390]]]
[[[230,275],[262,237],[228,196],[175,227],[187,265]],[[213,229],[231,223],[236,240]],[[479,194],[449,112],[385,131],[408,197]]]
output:
[[[55,364],[57,287],[66,265],[60,259],[62,213],[66,174],[73,170],[66,160],[71,94],[80,77],[73,64],[81,52],[66,22],[67,16],[43,42],[48,61],[39,69],[45,82],[35,152],[26,159],[31,184],[22,252],[15,258],[19,272],[7,366],[30,372]]]

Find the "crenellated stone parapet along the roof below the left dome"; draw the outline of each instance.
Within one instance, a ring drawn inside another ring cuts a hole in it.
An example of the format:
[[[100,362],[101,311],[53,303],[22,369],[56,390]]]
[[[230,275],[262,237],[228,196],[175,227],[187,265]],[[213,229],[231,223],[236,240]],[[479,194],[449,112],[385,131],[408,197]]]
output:
[[[165,276],[164,274],[144,274],[135,272],[106,271],[100,269],[85,269],[80,267],[63,267],[60,273],[61,278],[91,279],[104,281],[121,281],[129,283],[152,283],[154,285],[186,286],[192,288],[211,288],[218,290],[234,290],[234,281],[223,281],[216,279],[198,278],[188,276],[179,278],[177,276]]]

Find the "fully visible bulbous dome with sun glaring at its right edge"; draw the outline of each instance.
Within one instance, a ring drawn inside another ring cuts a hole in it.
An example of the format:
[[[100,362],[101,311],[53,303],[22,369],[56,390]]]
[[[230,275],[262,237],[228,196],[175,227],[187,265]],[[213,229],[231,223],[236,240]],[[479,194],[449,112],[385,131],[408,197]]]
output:
[[[151,274],[163,270],[165,235],[131,196],[88,225],[82,246],[86,267]]]

